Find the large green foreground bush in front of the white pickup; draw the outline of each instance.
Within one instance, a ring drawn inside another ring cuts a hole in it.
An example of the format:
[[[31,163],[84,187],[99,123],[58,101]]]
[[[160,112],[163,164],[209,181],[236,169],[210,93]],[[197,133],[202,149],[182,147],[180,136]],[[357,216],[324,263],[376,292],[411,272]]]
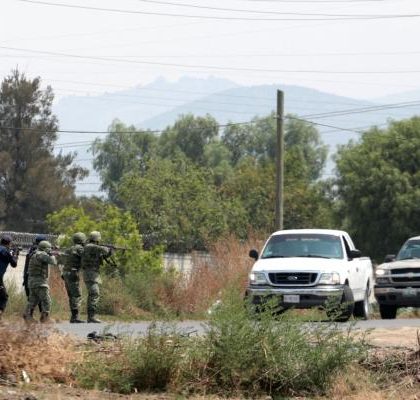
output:
[[[337,325],[305,325],[290,314],[276,315],[270,304],[249,318],[252,308],[239,296],[231,293],[224,302],[208,322],[207,357],[193,377],[197,389],[207,381],[212,392],[224,394],[322,393],[361,355],[361,344]]]

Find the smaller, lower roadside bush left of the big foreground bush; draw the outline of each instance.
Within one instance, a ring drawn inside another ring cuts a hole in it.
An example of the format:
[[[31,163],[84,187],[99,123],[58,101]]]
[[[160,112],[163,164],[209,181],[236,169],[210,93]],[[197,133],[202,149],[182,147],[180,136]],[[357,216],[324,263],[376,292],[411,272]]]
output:
[[[166,390],[175,381],[188,341],[175,326],[152,323],[144,337],[125,338],[88,353],[76,367],[78,382],[119,393]]]

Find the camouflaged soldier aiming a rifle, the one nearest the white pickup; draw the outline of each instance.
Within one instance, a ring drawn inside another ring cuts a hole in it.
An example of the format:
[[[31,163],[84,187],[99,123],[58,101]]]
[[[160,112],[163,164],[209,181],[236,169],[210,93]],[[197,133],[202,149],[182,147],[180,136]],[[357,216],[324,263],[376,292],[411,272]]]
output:
[[[100,232],[91,232],[89,235],[89,243],[85,246],[82,255],[83,280],[85,281],[88,291],[87,299],[87,322],[101,322],[96,318],[96,311],[99,301],[99,285],[101,278],[99,269],[103,261],[112,255],[112,250],[105,246],[100,246]]]

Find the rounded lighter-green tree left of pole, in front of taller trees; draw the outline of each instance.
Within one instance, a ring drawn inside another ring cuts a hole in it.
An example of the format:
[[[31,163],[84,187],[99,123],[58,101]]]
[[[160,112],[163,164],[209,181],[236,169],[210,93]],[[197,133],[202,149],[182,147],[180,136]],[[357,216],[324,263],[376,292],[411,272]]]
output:
[[[127,174],[119,196],[135,215],[148,246],[168,251],[204,249],[207,241],[227,231],[235,213],[223,204],[213,176],[187,160],[152,159],[146,172]]]

